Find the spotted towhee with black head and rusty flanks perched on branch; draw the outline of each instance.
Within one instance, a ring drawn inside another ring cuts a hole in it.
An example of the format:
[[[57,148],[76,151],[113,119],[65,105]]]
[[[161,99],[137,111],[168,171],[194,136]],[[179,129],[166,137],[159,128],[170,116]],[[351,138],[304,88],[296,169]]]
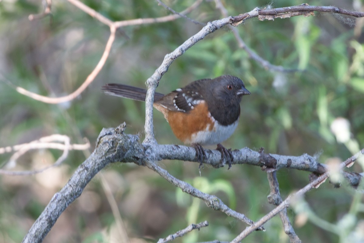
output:
[[[102,87],[106,94],[145,101],[146,90],[128,85],[109,83]],[[240,78],[223,75],[214,79],[194,81],[167,95],[155,93],[153,106],[161,111],[174,135],[196,149],[202,165],[206,156],[201,145],[217,144],[221,161],[227,160],[229,169],[233,161],[231,149],[220,143],[236,129],[240,117],[240,101],[250,94]]]

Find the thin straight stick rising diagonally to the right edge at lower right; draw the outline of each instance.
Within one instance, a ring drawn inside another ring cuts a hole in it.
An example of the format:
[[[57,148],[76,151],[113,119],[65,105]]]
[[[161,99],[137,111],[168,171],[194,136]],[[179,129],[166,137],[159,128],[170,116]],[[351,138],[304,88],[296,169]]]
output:
[[[360,152],[356,153],[352,157],[348,158],[344,162],[340,164],[340,169],[343,169],[345,166],[350,167],[353,165],[353,163],[359,158],[360,156],[363,156],[364,149],[362,149]],[[281,212],[283,209],[289,207],[290,200],[292,198],[297,198],[303,196],[306,192],[309,192],[312,188],[318,188],[322,183],[325,182],[325,180],[329,177],[330,171],[325,172],[323,175],[317,177],[316,180],[313,180],[311,183],[307,184],[304,188],[300,189],[299,191],[290,194],[278,207],[274,208],[272,211],[270,211],[268,214],[266,214],[264,217],[262,217],[260,220],[255,222],[252,226],[248,226],[245,228],[244,231],[242,231],[235,239],[231,241],[231,243],[238,243],[242,239],[244,239],[246,236],[254,232],[257,228],[261,227],[264,223],[266,223],[268,220],[270,220],[272,217],[276,216],[279,212]]]

